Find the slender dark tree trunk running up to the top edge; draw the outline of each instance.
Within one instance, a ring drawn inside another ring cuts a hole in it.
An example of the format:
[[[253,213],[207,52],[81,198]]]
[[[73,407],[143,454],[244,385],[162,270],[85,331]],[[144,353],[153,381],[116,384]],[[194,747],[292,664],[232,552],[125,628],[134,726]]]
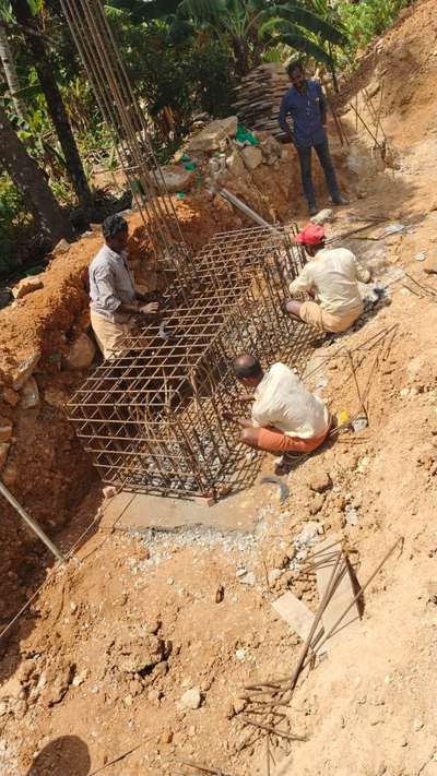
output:
[[[27,47],[33,55],[34,65],[47,100],[48,111],[54,122],[56,133],[62,147],[67,169],[82,207],[86,208],[91,201],[91,191],[79,155],[78,146],[71,130],[70,121],[63,105],[62,95],[54,75],[54,65],[46,51],[40,35],[33,35],[27,29],[37,31],[26,0],[11,0],[16,21],[23,27]]]

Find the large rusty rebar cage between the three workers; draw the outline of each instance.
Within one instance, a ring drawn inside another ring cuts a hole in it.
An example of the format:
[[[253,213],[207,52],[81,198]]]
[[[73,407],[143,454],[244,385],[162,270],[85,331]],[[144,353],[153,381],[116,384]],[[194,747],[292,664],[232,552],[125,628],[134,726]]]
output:
[[[142,493],[218,498],[247,486],[255,467],[238,441],[232,360],[257,355],[302,365],[310,334],[281,310],[303,261],[284,230],[216,235],[181,293],[167,289],[164,321],[132,332],[69,404],[102,479]],[[188,300],[188,301],[187,301]]]

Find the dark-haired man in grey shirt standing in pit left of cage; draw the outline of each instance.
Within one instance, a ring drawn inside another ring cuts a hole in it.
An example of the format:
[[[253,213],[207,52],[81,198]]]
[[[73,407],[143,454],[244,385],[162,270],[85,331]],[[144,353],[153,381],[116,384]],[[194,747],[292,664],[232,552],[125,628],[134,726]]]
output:
[[[137,294],[127,263],[129,227],[120,215],[105,218],[105,244],[90,265],[91,325],[105,359],[122,353],[122,341],[132,329],[134,317],[156,315],[156,301]]]

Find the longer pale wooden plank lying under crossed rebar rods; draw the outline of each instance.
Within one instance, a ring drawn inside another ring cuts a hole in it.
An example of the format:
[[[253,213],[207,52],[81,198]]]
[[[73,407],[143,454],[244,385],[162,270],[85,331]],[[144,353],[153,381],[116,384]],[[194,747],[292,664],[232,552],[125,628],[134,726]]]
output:
[[[329,539],[326,539],[323,542],[317,546],[318,552],[320,550],[323,550],[323,545],[324,547],[328,548],[329,545],[332,545],[332,541],[336,539],[338,537],[330,536]],[[328,583],[332,573],[332,568],[335,563],[335,554],[338,551],[341,549],[341,540],[339,538],[338,545],[334,547],[330,547],[330,549],[327,549],[327,554],[326,554],[326,563],[321,563],[323,559],[323,554],[319,553],[317,556],[317,561],[318,561],[318,566],[316,569],[316,576],[317,576],[317,587],[319,590],[319,598],[321,600],[326,588],[328,587]],[[346,569],[345,572],[336,586],[336,589],[334,590],[331,600],[329,601],[323,614],[322,614],[322,623],[323,623],[323,629],[324,633],[329,633],[331,628],[335,625],[335,622],[338,619],[341,617],[343,611],[347,609],[347,606],[352,602],[352,600],[355,597],[355,588],[353,585],[352,576],[351,576],[351,568],[349,563],[346,563]],[[329,638],[327,642],[327,648],[328,650],[332,649],[333,646],[335,646],[335,643],[339,643],[340,641],[343,641],[345,638],[349,638],[350,636],[354,635],[359,631],[359,611],[357,606],[352,607],[351,611],[346,614],[344,620],[339,624],[338,630],[335,633],[332,634],[332,636]]]

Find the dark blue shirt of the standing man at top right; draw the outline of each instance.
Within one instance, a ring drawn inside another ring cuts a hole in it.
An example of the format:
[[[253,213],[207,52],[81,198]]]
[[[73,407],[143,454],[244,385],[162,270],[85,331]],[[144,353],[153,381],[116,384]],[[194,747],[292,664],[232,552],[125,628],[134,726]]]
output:
[[[299,92],[295,86],[285,92],[280,108],[280,127],[288,134],[287,117],[291,116],[296,145],[300,148],[320,145],[327,139],[323,127],[326,110],[321,85],[317,81],[307,81],[305,92]]]

